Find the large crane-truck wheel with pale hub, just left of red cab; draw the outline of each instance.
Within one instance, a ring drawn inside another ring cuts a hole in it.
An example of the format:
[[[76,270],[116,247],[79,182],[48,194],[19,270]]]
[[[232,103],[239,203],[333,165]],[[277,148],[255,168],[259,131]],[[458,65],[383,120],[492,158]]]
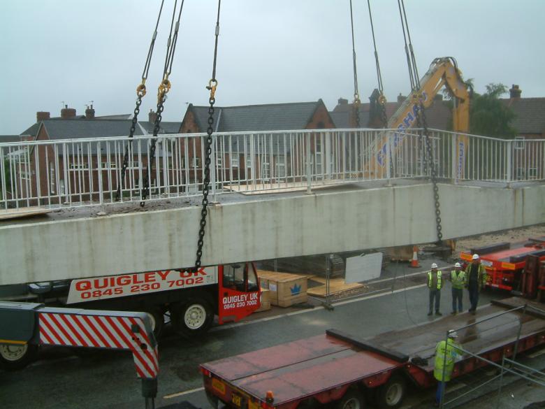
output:
[[[214,311],[210,303],[201,297],[188,299],[170,307],[174,329],[182,336],[200,336],[212,326]]]

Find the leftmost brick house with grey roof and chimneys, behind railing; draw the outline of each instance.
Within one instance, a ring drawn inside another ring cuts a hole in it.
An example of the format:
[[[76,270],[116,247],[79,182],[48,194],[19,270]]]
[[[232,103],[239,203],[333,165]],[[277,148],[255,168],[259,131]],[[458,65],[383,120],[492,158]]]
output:
[[[36,123],[20,134],[21,141],[66,141],[64,145],[36,145],[30,152],[17,152],[17,164],[13,170],[17,173],[19,185],[16,190],[17,198],[31,198],[36,196],[50,196],[49,203],[64,201],[98,200],[98,197],[89,197],[84,194],[90,190],[96,192],[101,185],[103,192],[108,192],[108,197],[117,189],[122,155],[114,152],[123,152],[125,141],[103,142],[99,146],[90,143],[93,138],[108,136],[128,136],[131,127],[131,115],[109,115],[107,117],[95,117],[94,108],[88,107],[86,115],[78,116],[75,109],[65,106],[61,110],[61,117],[50,117],[50,113],[36,113]],[[154,120],[150,113],[150,120]],[[152,134],[154,123],[152,121],[137,122],[135,136]],[[180,128],[180,122],[162,122],[161,133],[175,133]],[[68,140],[75,140],[70,141]],[[78,141],[79,140],[79,141]],[[86,140],[87,142],[84,142]],[[81,141],[81,142],[80,142]],[[147,169],[147,145],[133,143],[132,169]],[[158,145],[156,156],[160,158],[159,168],[164,160],[170,161],[168,153],[163,152]],[[39,166],[36,166],[38,159]],[[170,163],[170,162],[168,162]],[[66,165],[66,166],[65,166]],[[130,170],[130,168],[129,168]],[[99,173],[101,176],[99,176]],[[141,173],[138,173],[140,175]],[[162,177],[162,173],[161,173]],[[39,182],[38,182],[39,181]],[[139,177],[131,176],[130,184],[138,189]],[[161,183],[162,180],[159,180]],[[126,177],[126,186],[129,176]],[[150,181],[152,187],[155,180]],[[90,189],[90,187],[94,187]],[[68,197],[68,192],[70,197]],[[106,198],[105,198],[106,199]],[[27,201],[27,205],[34,206],[37,201]]]

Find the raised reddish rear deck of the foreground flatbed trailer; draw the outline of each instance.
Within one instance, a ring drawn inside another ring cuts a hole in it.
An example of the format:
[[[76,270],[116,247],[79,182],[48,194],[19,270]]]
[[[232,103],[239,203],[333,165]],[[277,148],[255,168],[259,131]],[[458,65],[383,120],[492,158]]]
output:
[[[252,396],[264,398],[267,391],[273,391],[277,406],[402,365],[320,335],[203,367]]]

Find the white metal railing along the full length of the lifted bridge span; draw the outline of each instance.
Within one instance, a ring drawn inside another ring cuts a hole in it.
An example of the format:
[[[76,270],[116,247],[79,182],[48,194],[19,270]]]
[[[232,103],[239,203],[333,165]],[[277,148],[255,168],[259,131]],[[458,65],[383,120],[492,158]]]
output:
[[[0,144],[0,208],[74,207],[139,201],[145,173],[150,199],[200,194],[205,134],[133,138],[124,180],[126,137]],[[545,140],[502,140],[431,131],[439,179],[450,182],[545,180]],[[267,192],[395,178],[428,178],[419,129],[320,129],[219,133],[212,147],[212,195]]]

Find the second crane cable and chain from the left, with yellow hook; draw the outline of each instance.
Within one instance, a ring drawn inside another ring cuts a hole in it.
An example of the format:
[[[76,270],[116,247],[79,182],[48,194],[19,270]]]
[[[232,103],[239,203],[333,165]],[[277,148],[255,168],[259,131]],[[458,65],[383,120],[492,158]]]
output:
[[[180,20],[182,18],[182,10],[184,8],[184,0],[180,5],[180,10],[178,11],[178,17],[176,23],[174,23],[176,15],[176,6],[177,0],[174,1],[174,8],[172,14],[172,20],[170,21],[170,33],[168,35],[168,41],[166,43],[166,57],[165,65],[163,68],[163,79],[161,80],[159,87],[157,89],[157,112],[155,115],[155,123],[153,128],[153,138],[150,145],[150,152],[147,155],[147,172],[144,173],[142,195],[140,198],[140,206],[145,206],[145,199],[150,192],[150,176],[153,172],[153,165],[155,159],[155,150],[157,148],[157,134],[159,134],[159,129],[161,129],[161,119],[163,113],[163,104],[166,101],[166,94],[170,91],[170,80],[168,77],[172,72],[172,66],[174,61],[174,52],[176,50],[176,43],[178,39],[178,31],[180,30]]]

